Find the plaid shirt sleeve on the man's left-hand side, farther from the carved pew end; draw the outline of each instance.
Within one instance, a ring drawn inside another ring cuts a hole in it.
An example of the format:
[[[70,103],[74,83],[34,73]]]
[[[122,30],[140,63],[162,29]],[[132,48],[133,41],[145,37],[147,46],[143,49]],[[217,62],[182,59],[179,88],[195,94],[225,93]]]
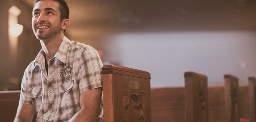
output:
[[[20,101],[19,104],[30,104],[32,105],[31,97],[30,97],[30,91],[28,87],[28,70],[27,68],[24,72],[24,76],[22,78],[22,84],[21,84],[21,90],[20,90]]]

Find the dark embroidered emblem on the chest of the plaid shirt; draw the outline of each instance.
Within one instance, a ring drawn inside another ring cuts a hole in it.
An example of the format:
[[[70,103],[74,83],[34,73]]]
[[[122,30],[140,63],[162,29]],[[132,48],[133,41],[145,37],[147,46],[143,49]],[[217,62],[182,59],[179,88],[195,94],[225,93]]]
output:
[[[73,65],[66,64],[60,71],[61,71],[61,78],[64,79],[66,82],[70,81],[73,74]]]

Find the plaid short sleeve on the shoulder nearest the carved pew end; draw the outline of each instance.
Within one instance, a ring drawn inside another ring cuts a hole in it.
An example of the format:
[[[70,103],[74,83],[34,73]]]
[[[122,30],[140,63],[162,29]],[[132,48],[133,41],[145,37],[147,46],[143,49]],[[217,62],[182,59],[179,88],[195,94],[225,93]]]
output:
[[[79,79],[79,93],[102,87],[102,62],[97,50],[93,48],[86,49],[79,61],[79,70],[77,78]]]

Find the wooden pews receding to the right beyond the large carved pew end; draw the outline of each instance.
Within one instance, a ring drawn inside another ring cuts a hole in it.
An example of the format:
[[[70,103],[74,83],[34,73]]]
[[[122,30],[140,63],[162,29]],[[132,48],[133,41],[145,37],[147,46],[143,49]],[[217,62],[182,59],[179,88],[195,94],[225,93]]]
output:
[[[256,122],[256,79],[238,85],[224,75],[224,85],[207,85],[207,77],[185,72],[185,87],[151,89],[152,122]],[[160,100],[161,99],[161,100]]]

